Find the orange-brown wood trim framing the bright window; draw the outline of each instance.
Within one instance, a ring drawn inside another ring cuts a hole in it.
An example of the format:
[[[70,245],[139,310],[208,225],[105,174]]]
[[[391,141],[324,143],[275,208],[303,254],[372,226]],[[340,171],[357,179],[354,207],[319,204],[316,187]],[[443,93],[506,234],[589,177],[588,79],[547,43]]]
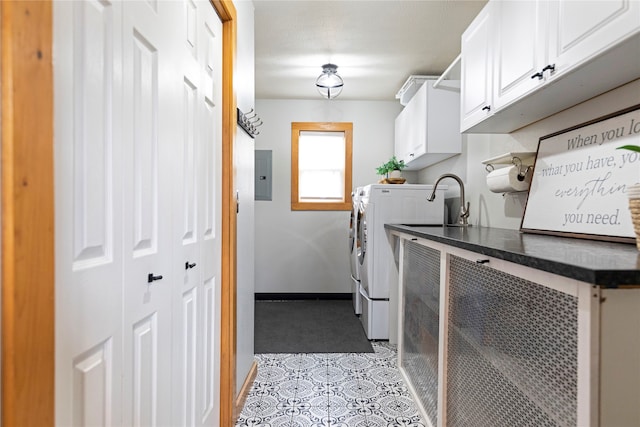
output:
[[[345,173],[344,202],[298,201],[298,138],[301,131],[344,132]],[[292,211],[349,211],[351,210],[351,176],[353,164],[353,123],[350,122],[293,122],[291,123],[291,210]]]

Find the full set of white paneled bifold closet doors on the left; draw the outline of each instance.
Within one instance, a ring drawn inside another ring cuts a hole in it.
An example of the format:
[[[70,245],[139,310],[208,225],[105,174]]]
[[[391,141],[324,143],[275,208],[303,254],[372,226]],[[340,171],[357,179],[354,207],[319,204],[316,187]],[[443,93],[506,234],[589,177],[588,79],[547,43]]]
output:
[[[58,425],[219,418],[221,27],[54,5]]]

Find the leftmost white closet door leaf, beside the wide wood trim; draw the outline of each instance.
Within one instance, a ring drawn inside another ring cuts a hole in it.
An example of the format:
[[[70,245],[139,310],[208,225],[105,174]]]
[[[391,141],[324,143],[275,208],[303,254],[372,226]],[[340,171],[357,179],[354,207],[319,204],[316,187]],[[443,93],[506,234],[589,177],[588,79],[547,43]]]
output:
[[[120,425],[122,5],[54,5],[56,425]]]

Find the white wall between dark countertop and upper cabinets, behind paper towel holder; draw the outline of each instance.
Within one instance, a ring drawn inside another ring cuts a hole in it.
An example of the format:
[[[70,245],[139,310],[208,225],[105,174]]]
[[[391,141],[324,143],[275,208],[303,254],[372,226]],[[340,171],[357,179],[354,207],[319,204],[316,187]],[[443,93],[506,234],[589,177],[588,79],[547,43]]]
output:
[[[561,94],[558,94],[561,96]],[[624,108],[640,104],[640,80],[633,81],[592,98],[551,117],[540,120],[508,135],[465,135],[463,154],[422,169],[416,182],[433,183],[445,172],[458,174],[465,183],[465,196],[471,202],[471,224],[517,230],[524,213],[526,193],[502,196],[486,185],[483,160],[510,151],[533,151],[540,137],[585,123]],[[454,181],[443,184],[456,187]]]

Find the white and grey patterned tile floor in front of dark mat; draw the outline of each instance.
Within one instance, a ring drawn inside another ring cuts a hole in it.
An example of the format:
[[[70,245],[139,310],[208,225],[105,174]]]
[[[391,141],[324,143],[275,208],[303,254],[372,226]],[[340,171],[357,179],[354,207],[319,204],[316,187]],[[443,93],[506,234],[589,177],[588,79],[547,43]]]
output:
[[[374,353],[258,354],[258,374],[236,426],[424,427],[395,346]]]

